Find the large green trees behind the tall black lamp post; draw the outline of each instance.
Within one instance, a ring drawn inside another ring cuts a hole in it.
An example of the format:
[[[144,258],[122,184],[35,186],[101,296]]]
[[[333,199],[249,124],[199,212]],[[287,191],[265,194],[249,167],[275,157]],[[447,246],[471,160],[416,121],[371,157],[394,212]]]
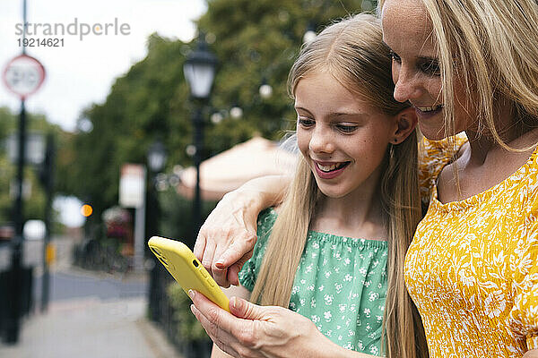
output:
[[[331,19],[359,12],[363,0],[207,0],[207,4],[198,27],[220,64],[204,118],[215,111],[225,114],[234,105],[244,115],[238,120],[226,116],[219,124],[206,121],[204,158],[254,134],[281,138],[295,122],[286,79],[305,30],[309,25],[320,30]],[[63,158],[69,175],[61,182],[62,189],[90,201],[94,217],[117,204],[121,166],[145,163],[152,141],[160,139],[168,149],[168,170],[192,165],[185,149],[192,142],[196,105],[189,100],[183,64],[195,43],[153,34],[147,47],[147,56],[117,78],[106,101],[84,111],[80,121],[91,123],[92,130],[76,133],[74,156]],[[263,81],[273,87],[271,98],[259,94]]]

